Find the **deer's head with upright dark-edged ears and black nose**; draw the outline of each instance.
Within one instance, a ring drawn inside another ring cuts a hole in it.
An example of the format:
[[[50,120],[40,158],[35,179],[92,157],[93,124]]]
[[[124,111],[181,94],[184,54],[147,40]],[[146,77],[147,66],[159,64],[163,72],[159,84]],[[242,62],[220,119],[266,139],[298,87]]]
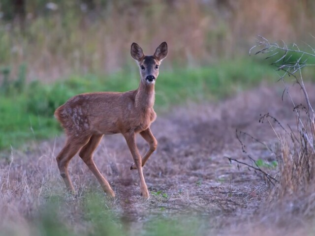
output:
[[[167,43],[162,42],[153,56],[145,56],[142,48],[138,44],[132,43],[130,53],[131,57],[138,62],[141,80],[146,84],[155,84],[159,65],[167,56]]]

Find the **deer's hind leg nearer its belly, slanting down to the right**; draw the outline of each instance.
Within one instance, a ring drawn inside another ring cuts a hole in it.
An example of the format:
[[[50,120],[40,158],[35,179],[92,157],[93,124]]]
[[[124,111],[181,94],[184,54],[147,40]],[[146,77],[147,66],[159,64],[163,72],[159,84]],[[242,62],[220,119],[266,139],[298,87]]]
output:
[[[84,163],[89,167],[89,169],[95,175],[98,182],[102,186],[102,189],[104,190],[104,192],[106,192],[111,197],[115,197],[115,193],[113,189],[110,187],[108,181],[99,172],[93,160],[93,153],[95,151],[95,148],[98,146],[100,140],[102,139],[102,137],[103,135],[99,135],[99,134],[92,135],[89,143],[87,143],[81,149],[79,156],[82,158]]]

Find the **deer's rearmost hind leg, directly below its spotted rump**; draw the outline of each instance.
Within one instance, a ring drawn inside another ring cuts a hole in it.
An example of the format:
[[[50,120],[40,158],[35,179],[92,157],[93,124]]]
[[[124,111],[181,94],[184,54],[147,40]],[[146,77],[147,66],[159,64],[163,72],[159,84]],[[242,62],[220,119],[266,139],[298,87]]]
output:
[[[79,151],[79,149],[86,145],[90,139],[90,136],[80,137],[80,138],[70,138],[68,137],[63,149],[60,151],[56,157],[58,168],[60,171],[61,177],[68,191],[74,193],[74,187],[72,185],[71,179],[69,177],[68,165],[71,158]]]

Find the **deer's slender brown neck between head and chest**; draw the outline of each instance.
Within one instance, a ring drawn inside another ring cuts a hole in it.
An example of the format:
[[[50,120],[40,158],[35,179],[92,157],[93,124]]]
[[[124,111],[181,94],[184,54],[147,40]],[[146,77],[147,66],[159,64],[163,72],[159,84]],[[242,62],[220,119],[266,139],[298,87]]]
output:
[[[141,81],[135,97],[136,107],[142,111],[146,111],[150,108],[153,108],[154,101],[154,84],[145,84]]]

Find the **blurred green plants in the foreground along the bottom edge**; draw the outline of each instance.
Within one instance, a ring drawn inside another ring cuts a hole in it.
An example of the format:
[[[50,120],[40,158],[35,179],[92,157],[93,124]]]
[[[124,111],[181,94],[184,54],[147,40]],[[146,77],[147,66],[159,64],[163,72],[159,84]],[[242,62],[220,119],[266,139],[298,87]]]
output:
[[[39,235],[55,236],[55,235],[78,235],[78,236],[194,236],[207,235],[211,230],[209,219],[202,219],[198,216],[189,216],[182,214],[181,216],[173,216],[170,218],[168,213],[161,211],[148,217],[143,227],[135,227],[132,219],[128,219],[124,213],[115,212],[110,209],[111,200],[104,198],[102,193],[91,192],[86,193],[79,200],[79,207],[84,215],[76,224],[85,225],[84,231],[76,229],[76,225],[67,225],[67,214],[71,214],[68,207],[64,207],[66,200],[58,197],[58,202],[48,200],[33,222]],[[69,210],[64,212],[63,210]],[[166,210],[164,210],[166,211]],[[65,218],[65,219],[63,219]],[[35,231],[35,232],[36,232]],[[1,234],[0,234],[1,235]]]

